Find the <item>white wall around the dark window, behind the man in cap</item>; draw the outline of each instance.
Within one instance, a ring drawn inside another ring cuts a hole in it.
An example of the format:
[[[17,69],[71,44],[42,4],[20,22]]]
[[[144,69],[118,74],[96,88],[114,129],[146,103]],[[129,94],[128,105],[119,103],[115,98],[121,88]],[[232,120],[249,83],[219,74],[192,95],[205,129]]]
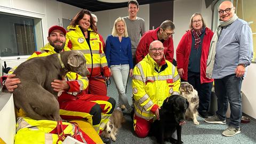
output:
[[[62,18],[73,18],[81,9],[55,0],[1,0],[0,12],[24,15],[41,19],[43,31],[43,43],[38,50],[44,46],[47,41],[48,29],[53,25],[62,26]],[[2,57],[8,67],[14,67],[25,61],[29,56],[21,57]]]

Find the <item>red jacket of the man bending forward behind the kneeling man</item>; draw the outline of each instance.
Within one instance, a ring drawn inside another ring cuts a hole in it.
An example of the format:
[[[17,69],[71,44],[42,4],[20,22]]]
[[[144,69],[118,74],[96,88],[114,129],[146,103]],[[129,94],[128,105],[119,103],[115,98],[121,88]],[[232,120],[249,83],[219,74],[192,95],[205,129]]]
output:
[[[145,58],[145,56],[148,54],[148,49],[149,49],[150,43],[155,40],[158,40],[157,31],[159,29],[160,29],[160,27],[158,27],[157,29],[154,29],[154,30],[149,30],[145,34],[143,34],[143,36],[141,37],[140,42],[137,46],[137,50],[136,50],[136,62],[137,63],[140,62],[143,58]],[[165,59],[172,62],[173,54],[174,54],[172,37],[170,37],[166,41],[164,41],[163,45],[164,45],[164,47],[167,48],[164,50]]]

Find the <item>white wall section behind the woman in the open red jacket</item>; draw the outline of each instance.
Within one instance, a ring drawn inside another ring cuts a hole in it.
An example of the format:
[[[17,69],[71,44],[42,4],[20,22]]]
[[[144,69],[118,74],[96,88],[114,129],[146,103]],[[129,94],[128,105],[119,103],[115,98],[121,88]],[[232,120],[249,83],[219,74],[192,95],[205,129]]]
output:
[[[206,9],[204,0],[175,0],[173,2],[173,22],[175,25],[173,43],[174,51],[176,51],[181,37],[185,34],[186,30],[188,30],[191,15],[201,13],[206,26],[211,28],[212,11],[211,6]],[[174,53],[174,59],[176,59],[176,52]]]

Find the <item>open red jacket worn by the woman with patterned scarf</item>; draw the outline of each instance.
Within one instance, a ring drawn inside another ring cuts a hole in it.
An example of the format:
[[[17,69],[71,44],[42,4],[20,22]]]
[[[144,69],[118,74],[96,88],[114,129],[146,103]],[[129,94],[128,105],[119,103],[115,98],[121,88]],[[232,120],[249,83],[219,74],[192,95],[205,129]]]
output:
[[[213,79],[206,78],[206,74],[205,74],[206,60],[208,58],[208,52],[209,52],[212,36],[213,36],[212,30],[206,27],[205,35],[202,41],[202,54],[201,54],[201,62],[200,62],[201,84],[213,82]],[[188,80],[188,63],[189,63],[189,55],[191,52],[191,45],[192,45],[192,34],[191,34],[191,30],[188,30],[187,33],[182,36],[176,50],[177,67],[178,69],[183,68],[184,74],[181,78],[186,81]]]

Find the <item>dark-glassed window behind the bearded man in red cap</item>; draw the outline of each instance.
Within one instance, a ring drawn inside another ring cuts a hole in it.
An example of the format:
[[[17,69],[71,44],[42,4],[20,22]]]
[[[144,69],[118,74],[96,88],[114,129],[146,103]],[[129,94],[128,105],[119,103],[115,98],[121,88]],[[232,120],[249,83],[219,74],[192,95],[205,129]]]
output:
[[[30,55],[43,46],[41,19],[0,13],[1,57]]]

